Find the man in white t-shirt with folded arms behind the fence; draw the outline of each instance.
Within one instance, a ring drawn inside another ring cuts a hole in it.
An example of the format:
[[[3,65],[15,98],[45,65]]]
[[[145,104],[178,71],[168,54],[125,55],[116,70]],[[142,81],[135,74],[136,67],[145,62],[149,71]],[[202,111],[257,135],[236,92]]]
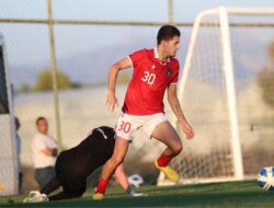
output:
[[[38,132],[32,142],[32,155],[35,180],[42,188],[55,177],[54,166],[58,152],[54,139],[47,135],[48,123],[45,117],[36,119],[36,129]]]

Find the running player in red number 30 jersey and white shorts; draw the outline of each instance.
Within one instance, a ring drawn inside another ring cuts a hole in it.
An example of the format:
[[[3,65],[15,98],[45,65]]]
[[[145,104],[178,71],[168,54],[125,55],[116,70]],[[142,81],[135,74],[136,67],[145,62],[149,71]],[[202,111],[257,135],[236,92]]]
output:
[[[168,164],[182,151],[182,142],[164,115],[163,95],[176,115],[186,139],[194,137],[194,130],[186,122],[176,96],[179,61],[174,58],[180,44],[180,31],[172,25],[163,25],[157,35],[157,47],[135,51],[114,63],[109,73],[106,104],[112,112],[117,105],[115,83],[119,70],[134,68],[128,84],[122,114],[116,126],[116,140],[112,158],[106,162],[93,199],[103,199],[111,175],[123,162],[133,134],[139,128],[167,146],[155,162],[168,178],[178,182],[179,175]]]

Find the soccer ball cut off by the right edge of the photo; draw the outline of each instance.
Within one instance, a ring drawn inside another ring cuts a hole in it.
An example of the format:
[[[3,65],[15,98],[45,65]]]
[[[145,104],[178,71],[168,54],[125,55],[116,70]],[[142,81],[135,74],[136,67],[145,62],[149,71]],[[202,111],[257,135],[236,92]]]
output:
[[[258,176],[258,184],[265,190],[274,190],[274,166],[261,169]]]

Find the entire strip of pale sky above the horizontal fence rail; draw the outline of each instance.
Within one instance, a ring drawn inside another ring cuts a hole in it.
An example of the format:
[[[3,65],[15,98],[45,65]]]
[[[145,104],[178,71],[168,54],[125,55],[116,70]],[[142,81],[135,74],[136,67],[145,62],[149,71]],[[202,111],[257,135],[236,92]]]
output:
[[[167,20],[168,0],[52,0],[58,19]],[[225,7],[274,7],[273,0],[173,0],[175,20],[193,21],[203,10]],[[46,18],[46,0],[0,0],[1,18]],[[140,14],[141,13],[141,14]]]

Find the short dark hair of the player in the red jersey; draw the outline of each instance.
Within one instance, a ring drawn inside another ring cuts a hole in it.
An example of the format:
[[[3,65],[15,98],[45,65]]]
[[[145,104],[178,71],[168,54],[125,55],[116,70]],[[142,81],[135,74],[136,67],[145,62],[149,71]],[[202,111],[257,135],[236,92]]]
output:
[[[172,39],[174,36],[181,36],[181,32],[173,25],[163,25],[158,32],[157,35],[157,45],[159,45],[162,41]]]

